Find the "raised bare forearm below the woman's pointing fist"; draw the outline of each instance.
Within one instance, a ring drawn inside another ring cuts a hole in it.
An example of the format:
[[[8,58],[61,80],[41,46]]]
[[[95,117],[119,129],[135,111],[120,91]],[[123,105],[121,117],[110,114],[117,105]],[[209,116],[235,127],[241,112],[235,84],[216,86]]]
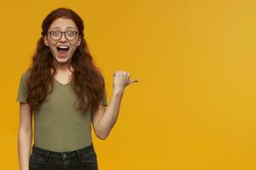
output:
[[[113,90],[112,98],[109,101],[108,108],[103,114],[101,120],[98,123],[98,129],[102,133],[102,137],[105,139],[108,137],[113,125],[117,121],[119,115],[119,107],[121,103],[124,89]]]

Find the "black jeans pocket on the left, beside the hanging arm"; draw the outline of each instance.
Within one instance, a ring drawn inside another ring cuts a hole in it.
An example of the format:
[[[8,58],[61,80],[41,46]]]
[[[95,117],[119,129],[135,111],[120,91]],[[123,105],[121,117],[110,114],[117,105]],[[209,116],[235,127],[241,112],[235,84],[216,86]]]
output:
[[[29,158],[30,169],[38,169],[38,168],[44,167],[45,163],[46,163],[46,156],[42,156],[37,153],[32,153],[32,155]]]

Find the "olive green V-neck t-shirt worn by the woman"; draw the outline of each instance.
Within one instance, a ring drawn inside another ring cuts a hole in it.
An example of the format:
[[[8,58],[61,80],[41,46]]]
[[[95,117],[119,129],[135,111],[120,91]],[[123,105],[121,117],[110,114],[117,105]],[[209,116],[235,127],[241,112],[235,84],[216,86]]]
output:
[[[28,70],[20,77],[20,88],[16,101],[26,103],[25,79]],[[105,95],[102,105],[108,105]],[[77,109],[76,94],[70,82],[61,84],[54,79],[54,88],[42,105],[33,111],[34,145],[45,150],[71,151],[91,144],[91,113]]]

